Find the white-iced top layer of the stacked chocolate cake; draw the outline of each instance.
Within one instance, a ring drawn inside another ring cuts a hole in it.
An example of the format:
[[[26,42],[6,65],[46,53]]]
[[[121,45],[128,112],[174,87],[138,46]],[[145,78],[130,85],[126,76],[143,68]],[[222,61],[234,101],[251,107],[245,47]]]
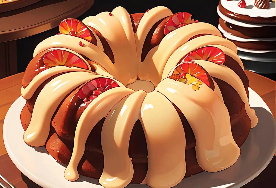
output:
[[[222,6],[221,1],[223,1],[224,6]],[[272,10],[272,9],[269,10],[269,12],[271,12],[271,13],[266,14],[267,9],[258,9],[256,7],[254,7],[254,0],[250,0],[250,2],[251,2],[250,5],[251,5],[251,7],[254,8],[254,10],[242,9],[242,8],[238,7],[238,5],[237,5],[238,1],[227,1],[227,0],[221,0],[221,1],[219,1],[219,11],[223,15],[225,15],[229,18],[238,20],[239,22],[257,23],[257,24],[273,24],[273,25],[276,24],[275,6],[274,6],[274,10]],[[232,3],[232,5],[230,3]],[[232,7],[233,7],[232,11],[229,10]],[[238,12],[237,10],[239,11],[239,13],[236,13],[236,12]],[[255,14],[256,13],[255,10],[258,10],[257,11],[258,14]],[[246,15],[244,13],[245,11],[252,12],[252,13],[250,13],[250,15]],[[261,11],[261,13],[259,13],[260,11]]]

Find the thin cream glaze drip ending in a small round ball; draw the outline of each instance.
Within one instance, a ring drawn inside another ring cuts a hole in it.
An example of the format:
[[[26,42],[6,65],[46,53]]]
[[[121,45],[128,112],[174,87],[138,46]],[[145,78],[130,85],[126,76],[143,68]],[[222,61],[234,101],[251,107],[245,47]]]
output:
[[[84,153],[86,140],[94,126],[125,96],[134,91],[125,87],[109,89],[95,98],[81,114],[74,137],[74,149],[70,162],[64,172],[66,179],[75,181],[79,178],[78,164]]]

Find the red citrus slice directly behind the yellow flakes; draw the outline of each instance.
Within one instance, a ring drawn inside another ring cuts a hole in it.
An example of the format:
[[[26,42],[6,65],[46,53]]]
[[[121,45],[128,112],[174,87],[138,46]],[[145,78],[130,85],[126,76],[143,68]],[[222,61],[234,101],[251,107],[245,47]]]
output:
[[[206,70],[200,65],[198,65],[197,63],[186,62],[179,65],[174,70],[174,74],[185,79],[187,79],[186,78],[187,73],[190,74],[191,76],[194,76],[198,80],[203,81],[203,83],[205,83],[207,86],[210,87],[210,82],[209,82],[208,75],[206,74]]]

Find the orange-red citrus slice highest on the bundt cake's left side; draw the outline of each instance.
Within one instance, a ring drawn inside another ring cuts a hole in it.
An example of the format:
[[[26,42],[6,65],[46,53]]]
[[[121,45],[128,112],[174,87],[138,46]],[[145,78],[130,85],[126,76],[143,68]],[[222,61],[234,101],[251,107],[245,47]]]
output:
[[[92,41],[92,35],[89,28],[84,25],[83,22],[73,18],[68,18],[60,22],[59,32],[61,34],[82,38],[88,42]]]

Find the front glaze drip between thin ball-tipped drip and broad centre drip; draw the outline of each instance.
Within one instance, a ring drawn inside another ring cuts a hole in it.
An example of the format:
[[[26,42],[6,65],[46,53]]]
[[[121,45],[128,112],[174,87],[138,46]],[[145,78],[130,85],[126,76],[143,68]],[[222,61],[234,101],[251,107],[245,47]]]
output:
[[[146,95],[145,91],[140,90],[126,96],[106,116],[102,128],[104,167],[99,179],[106,188],[123,188],[132,180],[129,140],[136,120],[140,119],[140,108]]]

